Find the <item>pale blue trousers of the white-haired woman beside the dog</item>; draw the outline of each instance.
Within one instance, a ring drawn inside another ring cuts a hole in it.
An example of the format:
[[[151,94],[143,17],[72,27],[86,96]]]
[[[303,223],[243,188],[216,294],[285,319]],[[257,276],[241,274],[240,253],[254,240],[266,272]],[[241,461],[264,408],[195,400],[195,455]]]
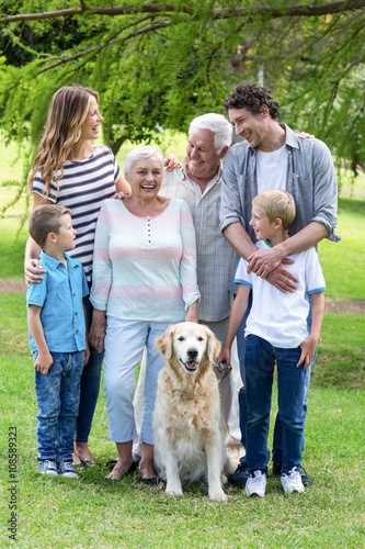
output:
[[[140,440],[153,444],[152,416],[157,394],[157,378],[163,367],[163,357],[155,347],[171,323],[121,321],[109,317],[105,336],[104,391],[107,427],[111,440],[127,442],[136,435],[133,397],[136,369],[146,347],[147,367],[142,406],[139,413]]]

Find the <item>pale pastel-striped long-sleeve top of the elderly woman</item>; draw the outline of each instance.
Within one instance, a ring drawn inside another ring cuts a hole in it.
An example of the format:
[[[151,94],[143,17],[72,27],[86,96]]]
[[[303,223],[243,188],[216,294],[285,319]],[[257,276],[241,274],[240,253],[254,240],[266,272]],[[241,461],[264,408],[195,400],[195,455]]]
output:
[[[121,320],[181,322],[199,299],[192,215],[172,199],[155,217],[106,200],[95,232],[91,303]]]

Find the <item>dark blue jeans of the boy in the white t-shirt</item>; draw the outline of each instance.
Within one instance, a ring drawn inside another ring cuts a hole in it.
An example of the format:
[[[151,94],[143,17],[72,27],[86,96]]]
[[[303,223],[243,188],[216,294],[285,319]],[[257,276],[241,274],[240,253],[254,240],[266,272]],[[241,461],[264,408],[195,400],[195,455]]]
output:
[[[261,337],[250,335],[246,339],[246,381],[248,423],[247,466],[249,473],[267,472],[267,434],[274,367],[277,368],[278,414],[282,423],[282,473],[300,467],[304,449],[305,412],[304,396],[308,369],[296,368],[300,348],[273,347]]]

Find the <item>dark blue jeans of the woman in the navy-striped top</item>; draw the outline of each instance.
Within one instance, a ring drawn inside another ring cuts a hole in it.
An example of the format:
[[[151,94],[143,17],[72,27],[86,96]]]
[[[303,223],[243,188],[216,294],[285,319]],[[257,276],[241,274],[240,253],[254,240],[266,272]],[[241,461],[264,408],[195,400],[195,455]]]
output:
[[[89,299],[84,300],[84,303],[90,327],[92,306]],[[90,358],[81,376],[80,406],[75,437],[78,442],[88,442],[89,440],[91,424],[99,397],[103,359],[104,351],[98,352],[98,350],[90,345]]]

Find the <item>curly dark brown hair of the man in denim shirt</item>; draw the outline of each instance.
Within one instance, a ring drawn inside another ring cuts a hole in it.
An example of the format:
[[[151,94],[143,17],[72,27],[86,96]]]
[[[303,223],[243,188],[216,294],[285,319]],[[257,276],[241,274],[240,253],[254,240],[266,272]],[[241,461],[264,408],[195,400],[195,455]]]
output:
[[[271,90],[263,86],[251,82],[242,82],[228,93],[225,100],[225,109],[246,109],[252,114],[260,114],[262,105],[265,104],[270,115],[274,120],[280,117],[280,104],[273,99]]]

